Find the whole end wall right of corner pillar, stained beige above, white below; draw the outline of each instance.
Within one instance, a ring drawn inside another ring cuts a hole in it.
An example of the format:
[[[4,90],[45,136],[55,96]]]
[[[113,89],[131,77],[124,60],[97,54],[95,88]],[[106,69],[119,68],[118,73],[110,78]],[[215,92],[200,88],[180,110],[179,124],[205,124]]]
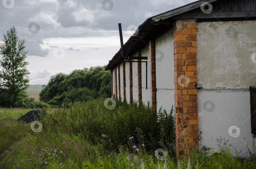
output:
[[[197,23],[199,149],[216,138],[252,151],[249,87],[256,86],[256,21]]]

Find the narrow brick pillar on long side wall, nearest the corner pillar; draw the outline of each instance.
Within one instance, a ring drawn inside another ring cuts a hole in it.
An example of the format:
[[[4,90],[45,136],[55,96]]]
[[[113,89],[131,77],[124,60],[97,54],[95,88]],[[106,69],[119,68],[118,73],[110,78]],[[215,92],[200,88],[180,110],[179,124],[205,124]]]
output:
[[[149,41],[150,58],[150,85],[151,85],[151,107],[156,109],[156,85],[155,85],[155,41]]]

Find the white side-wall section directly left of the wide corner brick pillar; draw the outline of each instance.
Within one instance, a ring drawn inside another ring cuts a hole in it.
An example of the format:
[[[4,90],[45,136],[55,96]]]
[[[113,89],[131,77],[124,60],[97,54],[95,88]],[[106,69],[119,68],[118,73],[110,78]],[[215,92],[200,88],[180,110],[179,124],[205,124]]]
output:
[[[170,112],[174,105],[173,29],[155,40],[156,101]]]

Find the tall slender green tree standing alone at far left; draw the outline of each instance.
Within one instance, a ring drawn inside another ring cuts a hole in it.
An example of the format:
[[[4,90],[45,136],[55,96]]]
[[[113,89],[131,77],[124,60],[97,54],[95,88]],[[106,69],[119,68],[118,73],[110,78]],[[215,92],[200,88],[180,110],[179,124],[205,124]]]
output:
[[[27,70],[27,51],[25,51],[25,40],[17,36],[16,28],[13,26],[7,33],[3,34],[3,42],[0,44],[0,78],[2,90],[7,92],[16,101],[17,97],[26,96],[29,87],[30,74]]]

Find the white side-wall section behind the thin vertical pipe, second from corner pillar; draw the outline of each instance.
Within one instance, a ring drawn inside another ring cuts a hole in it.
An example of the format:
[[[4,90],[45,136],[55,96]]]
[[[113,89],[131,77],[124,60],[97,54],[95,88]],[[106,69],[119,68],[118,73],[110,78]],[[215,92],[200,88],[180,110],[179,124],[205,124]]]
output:
[[[141,92],[142,92],[142,101],[147,104],[148,101],[151,100],[151,89],[150,89],[150,60],[149,60],[149,47],[145,47],[141,49],[141,56],[148,57],[147,64],[148,67],[146,68],[146,63],[141,63]],[[148,85],[146,89],[146,69],[148,70]]]

